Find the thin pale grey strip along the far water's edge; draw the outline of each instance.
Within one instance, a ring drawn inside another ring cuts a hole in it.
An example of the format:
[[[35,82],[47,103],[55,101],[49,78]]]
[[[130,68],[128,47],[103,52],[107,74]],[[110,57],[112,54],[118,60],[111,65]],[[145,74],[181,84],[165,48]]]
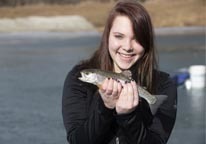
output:
[[[0,31],[0,35],[10,35],[10,36],[23,36],[25,34],[31,35],[31,37],[78,37],[78,36],[93,36],[93,35],[101,35],[102,31],[98,31],[96,29],[78,29],[78,30],[26,30],[26,31]],[[51,34],[51,35],[50,35]],[[154,34],[157,36],[164,35],[195,35],[195,34],[204,34],[206,35],[206,27],[204,26],[189,26],[189,27],[161,27],[154,28]]]

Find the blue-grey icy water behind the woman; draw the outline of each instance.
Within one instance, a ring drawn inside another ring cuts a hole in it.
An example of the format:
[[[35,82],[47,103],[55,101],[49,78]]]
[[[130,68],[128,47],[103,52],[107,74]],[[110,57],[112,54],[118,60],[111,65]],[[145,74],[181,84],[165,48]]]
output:
[[[98,47],[96,32],[0,34],[0,143],[66,144],[61,97],[68,71]],[[157,37],[160,69],[205,64],[205,35]],[[205,89],[178,88],[169,144],[205,143]]]

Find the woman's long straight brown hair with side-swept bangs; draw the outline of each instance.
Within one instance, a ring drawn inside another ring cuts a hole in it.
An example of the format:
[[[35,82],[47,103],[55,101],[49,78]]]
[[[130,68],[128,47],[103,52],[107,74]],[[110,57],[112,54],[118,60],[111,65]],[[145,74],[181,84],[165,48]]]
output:
[[[113,61],[108,50],[108,39],[113,21],[118,15],[127,16],[131,20],[135,38],[145,50],[144,55],[138,60],[138,66],[135,65],[138,83],[154,93],[153,72],[157,68],[157,61],[153,26],[148,12],[136,0],[121,0],[116,3],[106,21],[100,47],[87,61],[87,66],[108,71],[113,70]]]

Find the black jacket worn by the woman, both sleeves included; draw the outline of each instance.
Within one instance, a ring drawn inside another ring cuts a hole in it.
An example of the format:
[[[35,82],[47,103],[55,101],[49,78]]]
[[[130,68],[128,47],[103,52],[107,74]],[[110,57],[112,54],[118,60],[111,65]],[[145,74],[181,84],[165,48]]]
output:
[[[81,68],[68,74],[62,99],[63,121],[70,144],[166,144],[176,119],[177,88],[169,75],[156,76],[157,94],[167,100],[153,116],[145,100],[130,114],[108,109],[97,87],[78,80]]]

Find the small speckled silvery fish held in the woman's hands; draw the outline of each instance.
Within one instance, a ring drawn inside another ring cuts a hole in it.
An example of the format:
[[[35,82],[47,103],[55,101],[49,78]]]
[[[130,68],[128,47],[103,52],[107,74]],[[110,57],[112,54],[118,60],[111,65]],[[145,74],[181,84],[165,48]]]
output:
[[[115,73],[112,71],[105,71],[100,69],[84,69],[80,71],[81,77],[78,79],[91,83],[101,88],[103,81],[106,78],[113,78],[119,81],[121,84],[130,82],[132,80],[132,73],[129,70],[123,71],[122,73]],[[151,109],[152,114],[155,114],[159,106],[166,100],[166,95],[152,95],[144,87],[137,85],[138,94],[144,98]]]

